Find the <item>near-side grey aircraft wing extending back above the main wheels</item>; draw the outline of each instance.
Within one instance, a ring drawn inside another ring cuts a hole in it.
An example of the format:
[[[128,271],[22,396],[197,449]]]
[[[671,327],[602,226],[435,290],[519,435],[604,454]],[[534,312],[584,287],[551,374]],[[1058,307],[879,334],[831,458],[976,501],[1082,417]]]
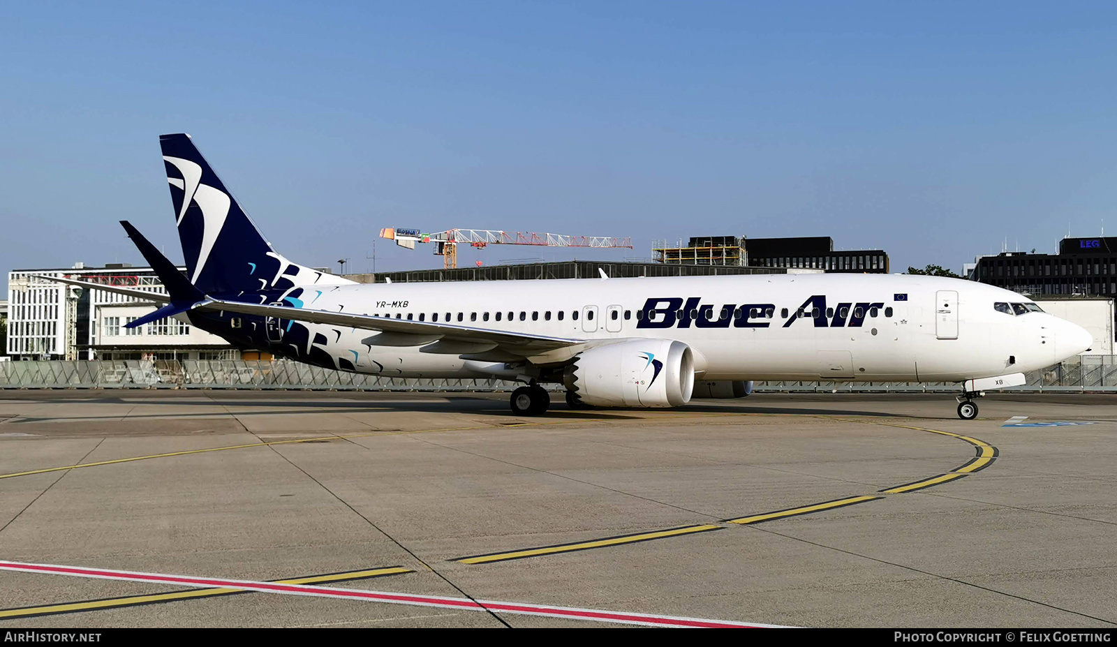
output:
[[[305,321],[317,324],[382,331],[382,334],[392,333],[392,335],[386,336],[393,337],[394,335],[394,339],[385,340],[384,345],[419,345],[446,339],[464,342],[487,342],[499,344],[508,350],[540,352],[585,343],[585,340],[570,337],[553,337],[547,335],[533,335],[527,333],[515,333],[491,329],[454,325],[448,323],[420,322],[367,314],[306,310],[280,305],[261,305],[235,301],[214,299],[204,302],[197,307],[198,310],[237,312],[241,314],[273,316],[276,318]],[[408,343],[408,336],[412,336],[412,341],[410,343]],[[373,341],[371,343],[375,344],[376,342]]]

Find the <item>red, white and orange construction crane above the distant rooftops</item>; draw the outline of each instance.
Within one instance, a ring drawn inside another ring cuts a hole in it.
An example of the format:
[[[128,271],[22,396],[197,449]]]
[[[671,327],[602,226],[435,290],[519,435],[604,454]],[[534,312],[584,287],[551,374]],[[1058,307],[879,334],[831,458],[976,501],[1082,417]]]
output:
[[[469,245],[478,249],[489,245],[535,245],[538,247],[596,247],[632,249],[631,238],[608,236],[563,236],[562,234],[536,234],[534,231],[495,231],[491,229],[448,229],[424,234],[421,229],[385,227],[381,238],[395,240],[400,247],[414,249],[417,242],[433,242],[435,255],[442,257],[442,267],[458,267],[458,245]]]

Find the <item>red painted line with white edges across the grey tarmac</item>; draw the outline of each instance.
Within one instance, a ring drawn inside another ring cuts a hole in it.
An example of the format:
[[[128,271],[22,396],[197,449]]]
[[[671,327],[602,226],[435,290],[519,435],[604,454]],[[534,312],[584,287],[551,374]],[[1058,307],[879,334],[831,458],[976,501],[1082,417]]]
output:
[[[599,622],[620,622],[626,625],[645,625],[652,627],[776,627],[776,625],[757,625],[734,622],[732,620],[709,620],[705,618],[681,618],[674,616],[657,616],[650,613],[629,613],[605,611],[599,609],[579,609],[573,607],[548,607],[519,602],[499,602],[481,600],[475,602],[468,598],[443,598],[439,596],[414,596],[410,593],[393,593],[388,591],[366,591],[362,589],[342,589],[335,587],[315,587],[309,584],[278,584],[255,580],[228,580],[221,578],[197,578],[191,575],[169,575],[163,573],[143,573],[137,571],[118,571],[111,569],[94,569],[86,567],[63,567],[56,564],[32,564],[26,562],[0,561],[0,570],[22,571],[31,573],[51,573],[78,578],[97,578],[108,580],[127,580],[163,584],[179,584],[195,588],[229,588],[259,591],[264,593],[283,593],[288,596],[316,596],[324,598],[345,598],[389,602],[395,605],[414,605],[421,607],[442,607],[470,611],[504,611],[531,616],[547,616],[552,618],[569,618],[575,620],[595,620]]]

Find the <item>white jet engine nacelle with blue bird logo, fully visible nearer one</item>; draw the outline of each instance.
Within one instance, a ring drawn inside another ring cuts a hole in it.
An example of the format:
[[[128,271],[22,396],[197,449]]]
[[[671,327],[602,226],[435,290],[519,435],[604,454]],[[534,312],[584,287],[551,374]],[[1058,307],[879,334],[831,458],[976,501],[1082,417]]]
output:
[[[694,390],[694,354],[671,340],[617,342],[579,353],[563,382],[596,407],[681,407]]]

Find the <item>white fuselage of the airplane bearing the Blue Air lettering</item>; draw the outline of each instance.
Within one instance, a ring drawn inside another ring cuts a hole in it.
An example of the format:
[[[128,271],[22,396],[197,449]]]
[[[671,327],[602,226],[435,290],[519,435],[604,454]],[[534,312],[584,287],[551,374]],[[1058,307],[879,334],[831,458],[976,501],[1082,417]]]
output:
[[[322,311],[577,339],[591,345],[615,339],[676,340],[691,348],[696,374],[704,380],[961,381],[1049,367],[1089,344],[1082,329],[1047,313],[1016,315],[994,310],[995,303],[1031,303],[1028,297],[981,283],[929,276],[750,275],[303,287],[303,307]],[[803,316],[798,316],[800,308]],[[485,375],[478,371],[484,362],[462,359],[460,350],[430,352],[429,340],[417,345],[376,345],[367,343],[375,334],[370,330],[307,325],[322,333],[315,345],[352,361],[357,372]]]

